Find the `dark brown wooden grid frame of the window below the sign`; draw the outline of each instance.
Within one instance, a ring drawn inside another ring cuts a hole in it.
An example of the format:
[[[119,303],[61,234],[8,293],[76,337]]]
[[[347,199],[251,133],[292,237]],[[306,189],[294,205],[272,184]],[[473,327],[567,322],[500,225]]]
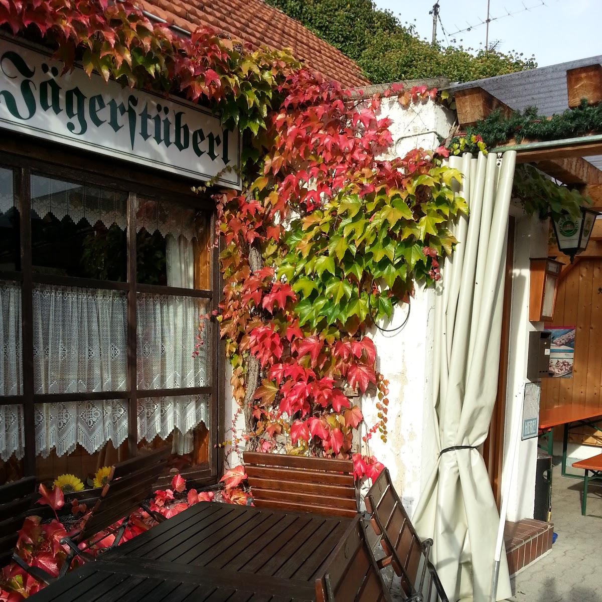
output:
[[[67,167],[68,166],[68,167]],[[132,169],[131,164],[99,158],[87,152],[57,146],[51,143],[32,141],[31,138],[11,135],[0,143],[0,167],[13,170],[13,189],[20,224],[20,270],[0,271],[0,279],[13,280],[21,284],[22,303],[22,366],[23,389],[20,395],[0,396],[0,405],[22,405],[25,430],[25,455],[23,456],[24,476],[36,476],[36,444],[34,429],[34,409],[37,403],[56,403],[86,400],[127,399],[128,400],[128,452],[129,457],[138,454],[137,441],[137,400],[141,397],[181,396],[190,394],[210,394],[209,458],[206,463],[182,473],[196,485],[217,482],[223,470],[223,451],[217,445],[224,439],[224,400],[225,400],[225,350],[219,336],[219,325],[212,318],[211,346],[211,385],[173,389],[138,389],[137,386],[137,295],[138,293],[177,294],[209,300],[209,311],[217,309],[219,291],[222,289],[219,272],[219,249],[211,252],[210,287],[205,290],[178,288],[163,285],[142,284],[136,281],[137,228],[135,225],[135,201],[137,196],[149,197],[162,202],[170,202],[177,197],[180,205],[200,209],[208,217],[209,228],[214,231],[215,206],[209,196],[199,197],[191,191],[198,182],[178,176],[169,180],[159,172],[147,168]],[[71,182],[82,182],[118,190],[128,194],[127,211],[127,272],[125,282],[104,281],[70,276],[52,276],[33,272],[31,240],[31,175],[32,173]],[[127,388],[125,391],[97,391],[93,393],[34,394],[33,382],[33,288],[37,284],[63,285],[81,288],[102,288],[127,293]],[[32,375],[25,378],[26,374]]]

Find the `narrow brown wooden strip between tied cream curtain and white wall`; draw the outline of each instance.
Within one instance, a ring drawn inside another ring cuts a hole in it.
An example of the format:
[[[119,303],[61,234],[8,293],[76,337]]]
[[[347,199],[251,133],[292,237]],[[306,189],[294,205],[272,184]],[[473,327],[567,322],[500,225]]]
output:
[[[512,306],[512,268],[514,263],[515,219],[508,221],[506,246],[506,272],[504,275],[504,299],[501,318],[500,371],[497,381],[497,397],[491,415],[489,434],[483,444],[483,459],[489,473],[489,482],[498,509],[501,504],[501,468],[504,458],[504,424],[506,422],[506,393],[508,379],[508,352],[510,346],[510,309]]]

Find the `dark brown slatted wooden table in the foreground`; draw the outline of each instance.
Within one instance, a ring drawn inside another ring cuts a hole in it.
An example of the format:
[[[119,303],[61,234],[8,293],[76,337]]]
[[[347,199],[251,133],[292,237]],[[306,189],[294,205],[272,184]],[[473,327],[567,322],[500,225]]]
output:
[[[75,569],[36,602],[315,600],[315,579],[356,520],[200,502]]]

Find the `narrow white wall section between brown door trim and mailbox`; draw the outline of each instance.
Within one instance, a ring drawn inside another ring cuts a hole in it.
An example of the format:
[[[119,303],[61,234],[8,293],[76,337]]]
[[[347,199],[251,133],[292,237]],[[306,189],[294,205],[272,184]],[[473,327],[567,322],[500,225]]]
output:
[[[516,219],[514,267],[512,270],[512,304],[510,310],[510,340],[506,394],[506,423],[504,427],[504,461],[502,492],[512,472],[508,497],[507,520],[533,518],[535,498],[535,469],[537,439],[519,441],[514,470],[510,471],[510,441],[517,437],[523,414],[524,385],[527,381],[527,347],[529,332],[543,330],[543,323],[529,321],[530,258],[548,255],[548,222],[538,216],[527,217],[513,205],[510,213]]]

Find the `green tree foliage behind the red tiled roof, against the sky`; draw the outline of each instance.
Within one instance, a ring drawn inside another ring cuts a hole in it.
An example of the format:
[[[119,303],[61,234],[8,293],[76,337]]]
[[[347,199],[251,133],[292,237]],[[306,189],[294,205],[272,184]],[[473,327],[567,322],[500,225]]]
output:
[[[359,64],[374,84],[447,77],[472,81],[536,66],[521,54],[430,45],[372,0],[267,0]]]

